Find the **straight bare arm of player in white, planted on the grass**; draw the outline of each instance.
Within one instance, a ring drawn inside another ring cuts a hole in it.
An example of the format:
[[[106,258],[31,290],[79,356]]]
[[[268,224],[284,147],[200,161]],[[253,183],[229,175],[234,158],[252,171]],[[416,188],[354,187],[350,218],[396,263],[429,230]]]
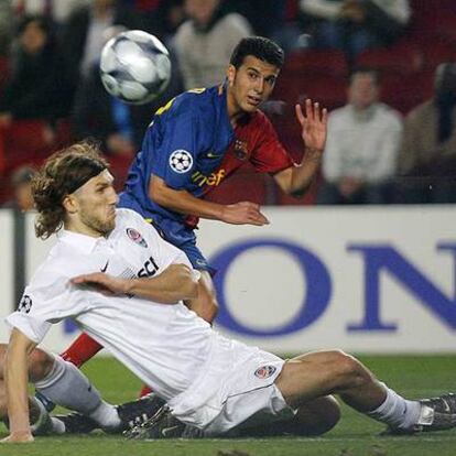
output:
[[[7,350],[4,381],[7,384],[10,435],[2,443],[33,442],[29,422],[28,356],[36,344],[13,328]]]

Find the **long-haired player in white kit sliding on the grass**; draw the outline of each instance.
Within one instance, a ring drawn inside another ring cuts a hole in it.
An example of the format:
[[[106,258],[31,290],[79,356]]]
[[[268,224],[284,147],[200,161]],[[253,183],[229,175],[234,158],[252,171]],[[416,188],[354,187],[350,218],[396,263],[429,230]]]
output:
[[[293,416],[333,393],[394,432],[456,425],[454,394],[405,400],[339,350],[284,361],[217,334],[182,302],[195,296],[198,273],[139,215],[116,209],[112,176],[93,146],[76,144],[50,158],[33,191],[37,236],[59,232],[7,318],[6,442],[33,439],[26,357],[66,317],[150,384],[173,416],[207,436]],[[59,382],[52,379],[54,388]]]

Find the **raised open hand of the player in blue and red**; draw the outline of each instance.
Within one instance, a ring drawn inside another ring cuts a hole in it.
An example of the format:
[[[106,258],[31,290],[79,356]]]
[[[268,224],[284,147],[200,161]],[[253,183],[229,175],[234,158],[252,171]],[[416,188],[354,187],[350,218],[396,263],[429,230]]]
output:
[[[305,116],[301,105],[296,105],[296,117],[301,123],[301,135],[306,149],[313,152],[322,153],[325,149],[328,111],[321,109],[318,102],[312,102],[311,99],[305,100]]]

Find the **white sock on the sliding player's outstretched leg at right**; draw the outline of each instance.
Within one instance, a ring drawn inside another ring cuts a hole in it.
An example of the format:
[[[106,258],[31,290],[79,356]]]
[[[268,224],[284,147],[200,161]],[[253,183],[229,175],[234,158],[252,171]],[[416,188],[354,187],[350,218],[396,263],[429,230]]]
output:
[[[388,387],[386,389],[387,399],[380,406],[367,414],[394,428],[406,430],[416,424],[420,419],[420,402],[409,401]]]

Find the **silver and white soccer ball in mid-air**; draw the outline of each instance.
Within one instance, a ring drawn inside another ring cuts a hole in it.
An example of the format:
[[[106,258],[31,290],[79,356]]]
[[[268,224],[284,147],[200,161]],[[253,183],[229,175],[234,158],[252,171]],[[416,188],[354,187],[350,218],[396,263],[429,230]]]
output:
[[[100,76],[109,94],[128,104],[143,105],[170,83],[170,53],[156,36],[142,30],[122,32],[105,44]]]

